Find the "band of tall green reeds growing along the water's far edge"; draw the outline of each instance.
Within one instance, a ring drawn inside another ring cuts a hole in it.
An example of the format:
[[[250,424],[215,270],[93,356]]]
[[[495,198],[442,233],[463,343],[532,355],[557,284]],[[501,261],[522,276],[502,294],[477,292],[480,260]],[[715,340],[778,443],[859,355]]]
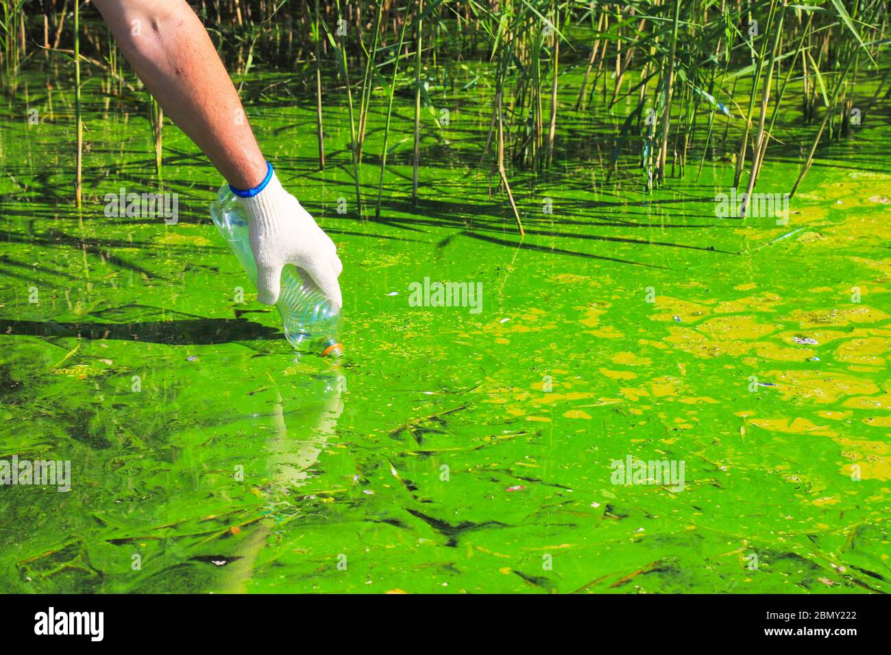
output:
[[[76,25],[69,45],[70,32],[63,26],[71,4]],[[820,148],[852,134],[854,107],[880,102],[888,81],[884,0],[314,0],[308,6],[200,0],[192,6],[225,61],[237,62],[233,72],[249,76],[257,65],[293,65],[295,60],[298,67],[314,67],[320,168],[325,167],[323,96],[345,105],[360,212],[362,153],[374,106],[386,109],[384,146],[374,155],[379,169],[375,213],[380,215],[384,172],[394,148],[410,148],[412,198],[423,202],[424,139],[441,129],[422,111],[431,102],[425,85],[445,84],[454,69],[443,62],[479,64],[486,79],[478,88],[487,89],[481,93],[488,94],[492,107],[488,134],[478,143],[479,160],[491,153],[491,170],[520,232],[510,178],[524,170],[535,176],[568,157],[561,122],[583,126],[608,142],[608,176],[639,176],[653,188],[683,175],[691,156],[699,173],[709,160],[732,158],[733,184],[753,192],[770,144],[782,142],[778,130],[789,124],[778,120],[782,112],[793,122],[814,126],[794,192]],[[133,79],[110,41],[81,42],[81,8],[89,11],[87,20],[98,21],[90,4],[69,0],[4,0],[0,11],[0,59],[8,93],[14,93],[24,61],[37,65],[29,43],[45,45],[48,59],[42,65],[48,82],[55,68],[61,66],[64,74],[69,62],[59,55],[73,48],[78,197],[80,68],[100,69],[114,79],[116,85],[109,81],[107,87],[119,95],[132,89],[125,78]],[[347,29],[341,29],[345,24]],[[338,29],[331,29],[334,25]],[[85,56],[85,46],[95,52]],[[403,60],[410,63],[400,75]],[[425,61],[437,72],[424,72]],[[355,82],[351,69],[362,72]],[[857,94],[856,83],[864,76],[879,80],[871,98]],[[413,113],[411,134],[390,147],[391,115],[400,103]],[[159,111],[152,116],[160,173]],[[636,161],[637,169],[620,168],[625,161]]]

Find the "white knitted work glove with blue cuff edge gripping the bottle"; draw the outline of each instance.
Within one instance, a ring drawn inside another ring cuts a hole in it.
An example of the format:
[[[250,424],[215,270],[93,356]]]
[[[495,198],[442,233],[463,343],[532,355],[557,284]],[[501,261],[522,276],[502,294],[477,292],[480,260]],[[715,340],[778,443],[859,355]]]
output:
[[[257,300],[274,305],[281,288],[282,266],[293,264],[313,279],[325,296],[343,306],[337,278],[343,266],[334,242],[289,192],[275,173],[266,187],[239,198],[249,217],[250,249],[257,261]]]

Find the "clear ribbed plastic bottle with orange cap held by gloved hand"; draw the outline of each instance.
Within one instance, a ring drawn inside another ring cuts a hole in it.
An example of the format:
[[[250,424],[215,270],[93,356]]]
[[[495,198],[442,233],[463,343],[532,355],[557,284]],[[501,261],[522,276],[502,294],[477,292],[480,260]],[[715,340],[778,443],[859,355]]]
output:
[[[257,262],[250,250],[248,217],[227,184],[220,187],[217,200],[210,203],[210,217],[256,288]],[[282,291],[275,307],[282,315],[282,331],[290,345],[323,356],[342,356],[339,308],[297,266],[284,266],[281,282]]]

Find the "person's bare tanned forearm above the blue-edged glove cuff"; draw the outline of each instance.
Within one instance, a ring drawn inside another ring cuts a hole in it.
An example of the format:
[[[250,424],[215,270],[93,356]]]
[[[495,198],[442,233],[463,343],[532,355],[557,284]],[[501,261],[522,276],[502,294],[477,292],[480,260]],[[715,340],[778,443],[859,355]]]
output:
[[[164,112],[234,187],[266,176],[232,81],[184,0],[94,0],[120,50]],[[137,21],[137,22],[134,22]]]

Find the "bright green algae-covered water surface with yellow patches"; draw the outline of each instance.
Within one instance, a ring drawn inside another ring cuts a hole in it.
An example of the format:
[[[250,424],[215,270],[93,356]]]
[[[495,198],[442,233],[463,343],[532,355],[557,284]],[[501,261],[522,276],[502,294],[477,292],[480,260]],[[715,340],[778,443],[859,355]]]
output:
[[[716,216],[714,152],[699,180],[608,182],[611,143],[567,110],[561,163],[511,171],[519,238],[472,89],[429,121],[416,207],[396,108],[373,220],[344,105],[320,171],[315,100],[252,76],[265,154],[344,263],[335,362],[256,302],[208,217],[219,176],[175,127],[155,176],[142,95],[86,78],[71,209],[70,80],[43,79],[0,131],[0,457],[69,461],[70,489],[0,487],[3,591],[891,591],[887,103],[818,152],[785,225]],[[759,192],[788,192],[813,138],[783,129]],[[176,193],[176,222],[107,216],[121,188]],[[478,302],[418,306],[425,279]],[[617,478],[639,461],[683,479]]]

